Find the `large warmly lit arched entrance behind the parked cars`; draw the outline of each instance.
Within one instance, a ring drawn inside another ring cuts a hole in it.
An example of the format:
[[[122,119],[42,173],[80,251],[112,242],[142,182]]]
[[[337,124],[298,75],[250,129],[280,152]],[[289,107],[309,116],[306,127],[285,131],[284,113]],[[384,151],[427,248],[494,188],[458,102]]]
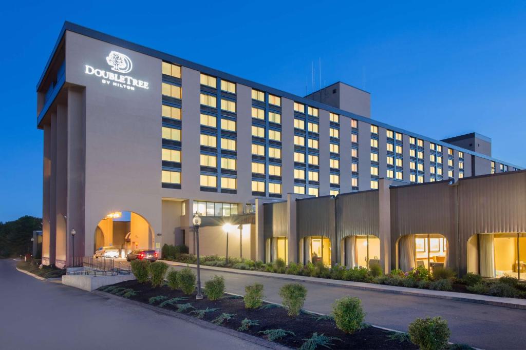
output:
[[[134,249],[153,249],[154,233],[148,221],[133,211],[114,211],[100,220],[94,232],[93,251],[100,247],[119,249],[119,257]]]

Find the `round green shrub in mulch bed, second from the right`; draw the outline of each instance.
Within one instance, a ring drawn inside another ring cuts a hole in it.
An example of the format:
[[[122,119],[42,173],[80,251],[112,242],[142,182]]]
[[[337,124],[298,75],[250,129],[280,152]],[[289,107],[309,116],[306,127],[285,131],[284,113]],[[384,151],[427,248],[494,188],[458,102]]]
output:
[[[332,314],[339,330],[345,333],[355,333],[360,330],[365,312],[363,312],[360,299],[355,296],[344,296],[332,304]]]

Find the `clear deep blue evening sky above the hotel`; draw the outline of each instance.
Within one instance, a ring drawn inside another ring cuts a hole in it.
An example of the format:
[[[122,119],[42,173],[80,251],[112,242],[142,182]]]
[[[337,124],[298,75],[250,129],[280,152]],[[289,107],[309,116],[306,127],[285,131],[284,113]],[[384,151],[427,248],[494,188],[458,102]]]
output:
[[[526,2],[3,6],[0,221],[42,215],[35,86],[65,20],[299,95],[312,62],[316,87],[319,59],[322,85],[364,88],[365,66],[373,119],[435,139],[477,131],[526,166]]]

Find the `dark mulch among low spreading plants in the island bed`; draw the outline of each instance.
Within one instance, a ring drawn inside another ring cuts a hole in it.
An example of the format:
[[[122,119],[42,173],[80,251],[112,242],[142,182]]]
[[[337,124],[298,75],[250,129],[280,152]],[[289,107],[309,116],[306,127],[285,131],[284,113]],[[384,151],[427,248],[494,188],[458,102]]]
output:
[[[282,337],[280,340],[275,342],[285,345],[291,348],[299,348],[305,339],[310,338],[312,333],[318,332],[318,334],[325,334],[326,336],[338,337],[340,340],[333,340],[330,347],[332,349],[341,348],[356,348],[356,349],[418,349],[418,346],[408,342],[399,340],[391,340],[389,335],[393,332],[381,330],[376,327],[365,327],[361,331],[356,332],[352,335],[343,333],[336,328],[336,324],[333,320],[317,320],[317,315],[308,313],[301,313],[296,319],[292,319],[287,315],[287,310],[283,307],[275,304],[270,304],[275,307],[268,307],[269,305],[264,303],[264,306],[260,309],[245,309],[245,303],[242,298],[225,294],[225,298],[217,301],[210,301],[204,297],[203,300],[196,300],[195,293],[186,295],[181,291],[174,291],[167,286],[159,288],[151,288],[150,283],[138,283],[134,281],[126,281],[113,285],[114,287],[122,287],[133,289],[137,294],[129,296],[129,299],[136,300],[148,304],[149,299],[154,296],[163,295],[167,299],[155,302],[153,305],[159,305],[163,301],[171,298],[183,298],[186,300],[179,301],[180,304],[191,303],[195,309],[183,311],[182,313],[190,316],[196,316],[195,313],[191,313],[194,310],[203,310],[209,307],[210,309],[218,309],[217,311],[208,312],[203,317],[203,320],[211,322],[216,319],[221,313],[235,314],[235,316],[225,321],[222,324],[225,327],[237,330],[241,325],[241,321],[245,318],[249,320],[258,321],[259,325],[251,326],[248,331],[244,331],[247,334],[251,334],[257,337],[266,338],[265,335],[259,333],[264,330],[272,330],[282,328],[283,330],[294,332],[294,335],[287,335]],[[107,287],[102,287],[103,290]],[[117,293],[118,295],[118,293]],[[172,310],[177,312],[177,307],[174,305],[166,305],[164,309]]]

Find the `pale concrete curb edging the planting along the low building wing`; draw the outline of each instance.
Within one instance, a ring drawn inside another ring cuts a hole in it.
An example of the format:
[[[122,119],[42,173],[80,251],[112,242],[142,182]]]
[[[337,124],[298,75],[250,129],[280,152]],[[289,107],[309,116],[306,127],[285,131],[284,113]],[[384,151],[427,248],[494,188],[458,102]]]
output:
[[[171,266],[180,266],[180,267],[190,267],[196,268],[195,264],[185,264],[177,261],[162,260]],[[203,266],[201,269],[204,270],[213,270],[237,274],[247,274],[252,276],[267,277],[288,281],[296,282],[307,282],[307,283],[316,283],[322,285],[330,285],[332,287],[345,287],[361,290],[370,290],[375,292],[384,292],[384,293],[394,293],[394,294],[404,294],[404,295],[414,295],[414,296],[423,296],[427,298],[438,298],[438,299],[447,299],[454,301],[463,301],[469,303],[478,303],[485,305],[501,306],[501,307],[511,307],[512,309],[522,309],[526,310],[526,300],[524,299],[515,299],[515,298],[503,298],[500,296],[490,296],[490,295],[479,295],[479,294],[468,294],[460,292],[448,292],[448,291],[431,291],[425,289],[416,289],[416,288],[407,288],[407,287],[395,287],[383,284],[373,284],[366,282],[351,282],[351,281],[340,281],[340,280],[329,280],[321,279],[316,277],[305,277],[297,275],[287,275],[273,272],[263,272],[263,271],[247,271],[247,270],[237,270],[230,268],[218,268],[215,266]]]

